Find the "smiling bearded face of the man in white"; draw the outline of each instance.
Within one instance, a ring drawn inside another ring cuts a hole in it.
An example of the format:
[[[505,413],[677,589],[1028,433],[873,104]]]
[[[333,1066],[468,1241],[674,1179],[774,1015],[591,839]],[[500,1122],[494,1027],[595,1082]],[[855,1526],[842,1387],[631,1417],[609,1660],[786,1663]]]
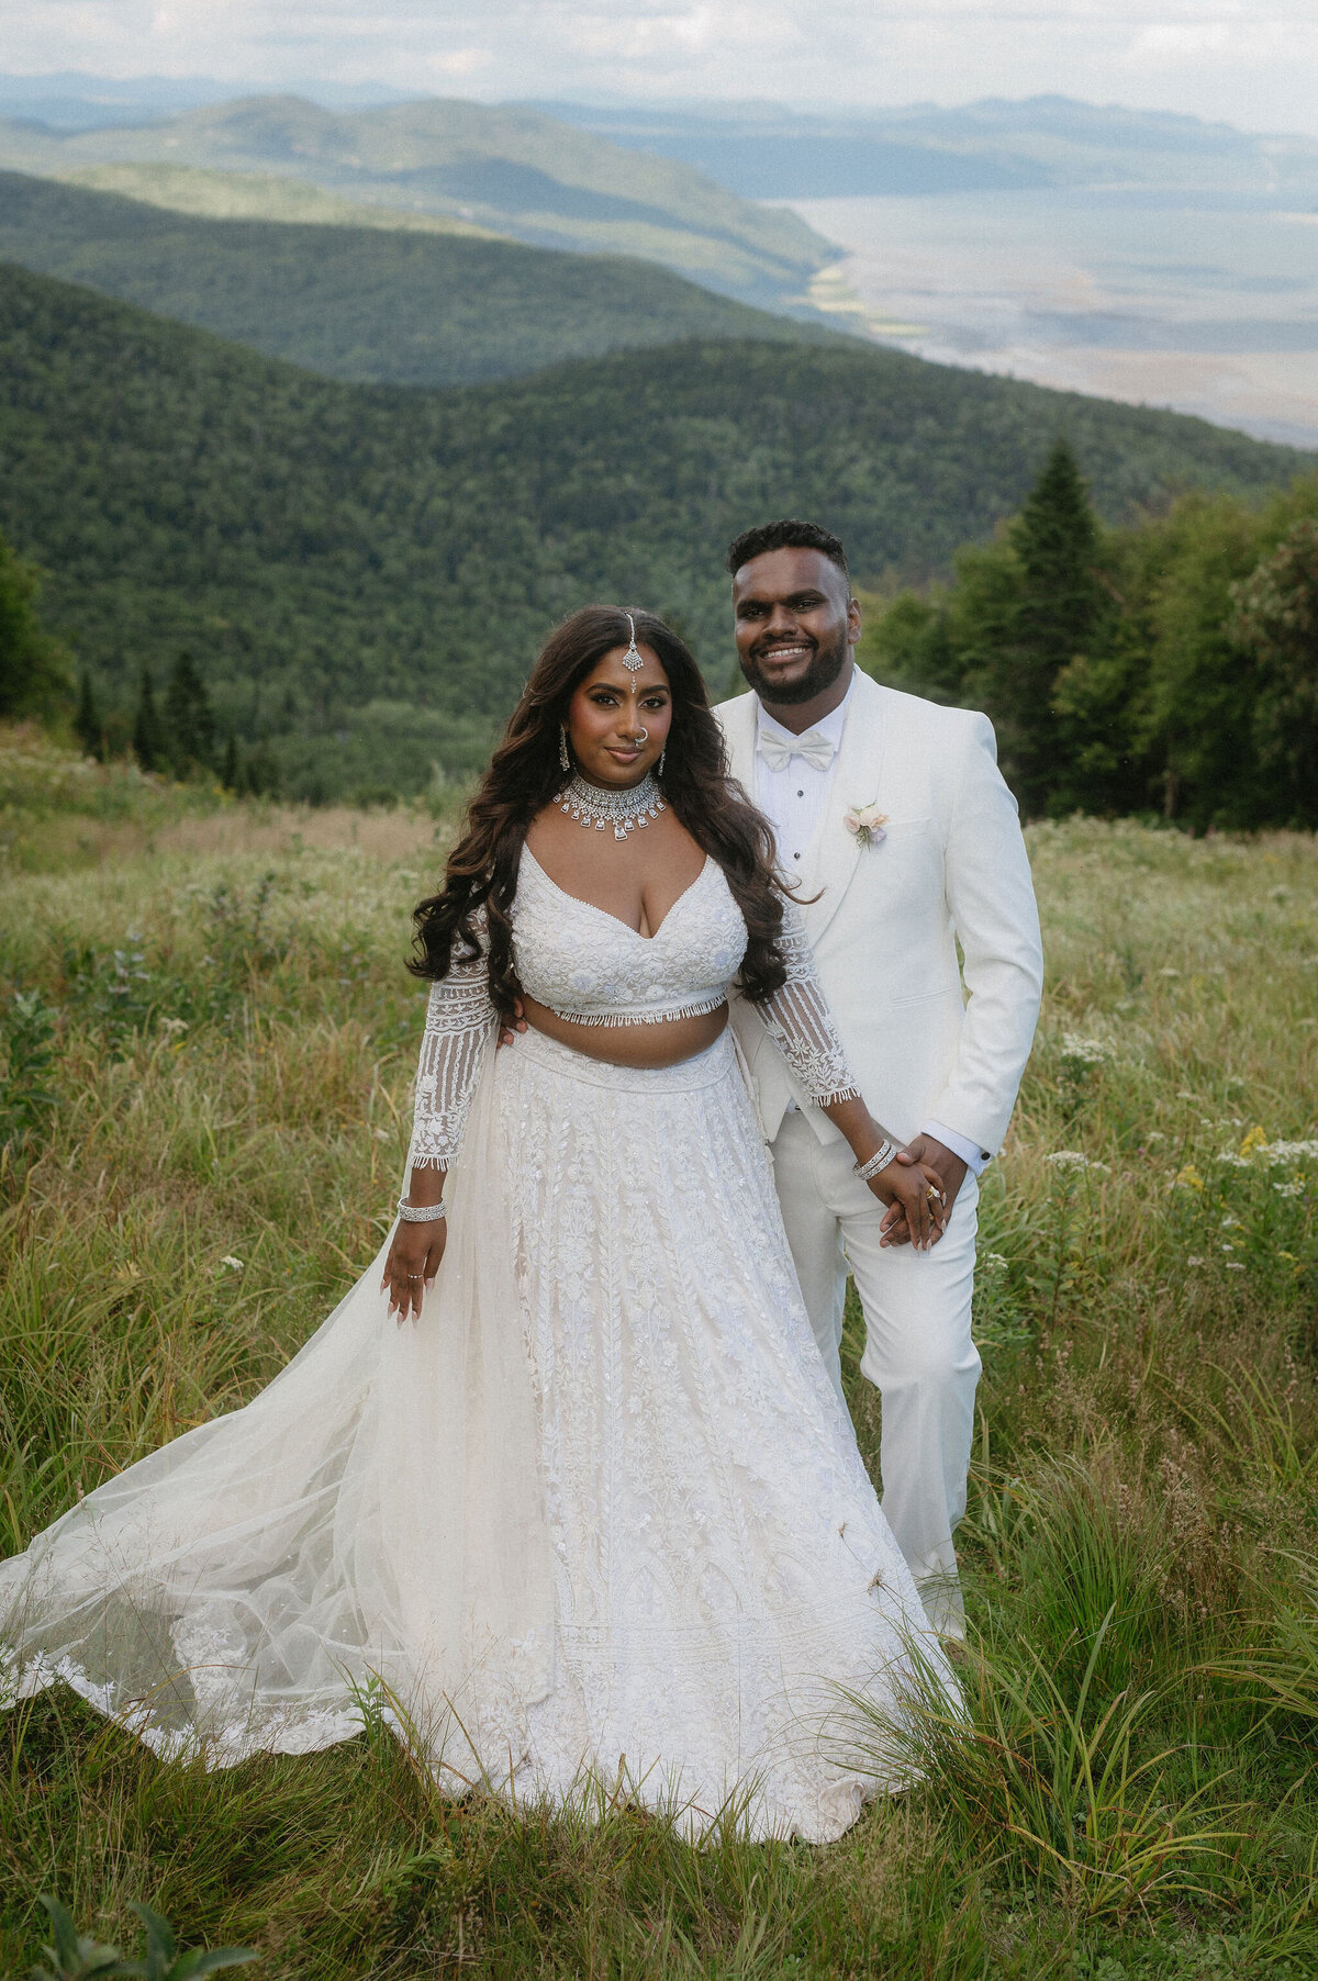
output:
[[[769,707],[832,687],[860,638],[860,608],[823,551],[765,551],[731,580],[741,672]]]

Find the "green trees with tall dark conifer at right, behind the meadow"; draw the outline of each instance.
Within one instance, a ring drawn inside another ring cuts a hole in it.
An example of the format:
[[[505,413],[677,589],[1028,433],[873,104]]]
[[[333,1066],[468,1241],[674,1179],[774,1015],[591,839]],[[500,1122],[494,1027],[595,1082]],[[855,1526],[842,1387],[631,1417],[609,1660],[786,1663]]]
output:
[[[947,586],[870,600],[864,666],[985,709],[1027,816],[1318,826],[1318,477],[1106,529],[1052,448]]]

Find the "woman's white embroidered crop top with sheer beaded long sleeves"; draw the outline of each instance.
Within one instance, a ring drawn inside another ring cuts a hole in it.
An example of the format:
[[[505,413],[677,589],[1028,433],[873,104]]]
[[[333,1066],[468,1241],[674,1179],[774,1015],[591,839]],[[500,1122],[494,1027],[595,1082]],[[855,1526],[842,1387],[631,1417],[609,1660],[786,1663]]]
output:
[[[527,996],[577,1024],[664,1024],[727,1002],[745,957],[745,921],[715,860],[640,935],[608,909],[565,893],[529,848],[511,909],[513,967]],[[779,939],[787,983],[757,1010],[813,1101],[858,1099],[795,905]],[[482,1052],[497,1024],[484,955],[430,987],[416,1074],[412,1165],[448,1169],[462,1147]],[[515,1048],[513,1048],[515,1050]]]

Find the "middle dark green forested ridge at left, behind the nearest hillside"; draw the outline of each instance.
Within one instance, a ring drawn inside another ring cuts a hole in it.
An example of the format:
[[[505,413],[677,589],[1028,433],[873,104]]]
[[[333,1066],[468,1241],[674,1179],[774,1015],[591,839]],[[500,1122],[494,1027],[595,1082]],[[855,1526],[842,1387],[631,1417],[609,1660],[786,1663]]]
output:
[[[196,220],[18,172],[0,172],[0,258],[333,378],[390,384],[472,384],[680,337],[830,335],[712,295],[652,261],[379,228]]]

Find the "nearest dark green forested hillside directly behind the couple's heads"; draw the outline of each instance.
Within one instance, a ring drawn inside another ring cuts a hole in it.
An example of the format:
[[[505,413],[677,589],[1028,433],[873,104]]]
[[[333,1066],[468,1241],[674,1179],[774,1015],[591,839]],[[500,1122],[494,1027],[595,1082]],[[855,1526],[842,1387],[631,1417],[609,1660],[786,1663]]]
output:
[[[420,392],[281,366],[0,267],[0,531],[127,701],[188,648],[289,788],[466,767],[591,596],[729,679],[721,547],[815,513],[856,578],[924,578],[1015,509],[1064,426],[1110,519],[1310,458],[1175,414],[858,345],[686,343]]]

